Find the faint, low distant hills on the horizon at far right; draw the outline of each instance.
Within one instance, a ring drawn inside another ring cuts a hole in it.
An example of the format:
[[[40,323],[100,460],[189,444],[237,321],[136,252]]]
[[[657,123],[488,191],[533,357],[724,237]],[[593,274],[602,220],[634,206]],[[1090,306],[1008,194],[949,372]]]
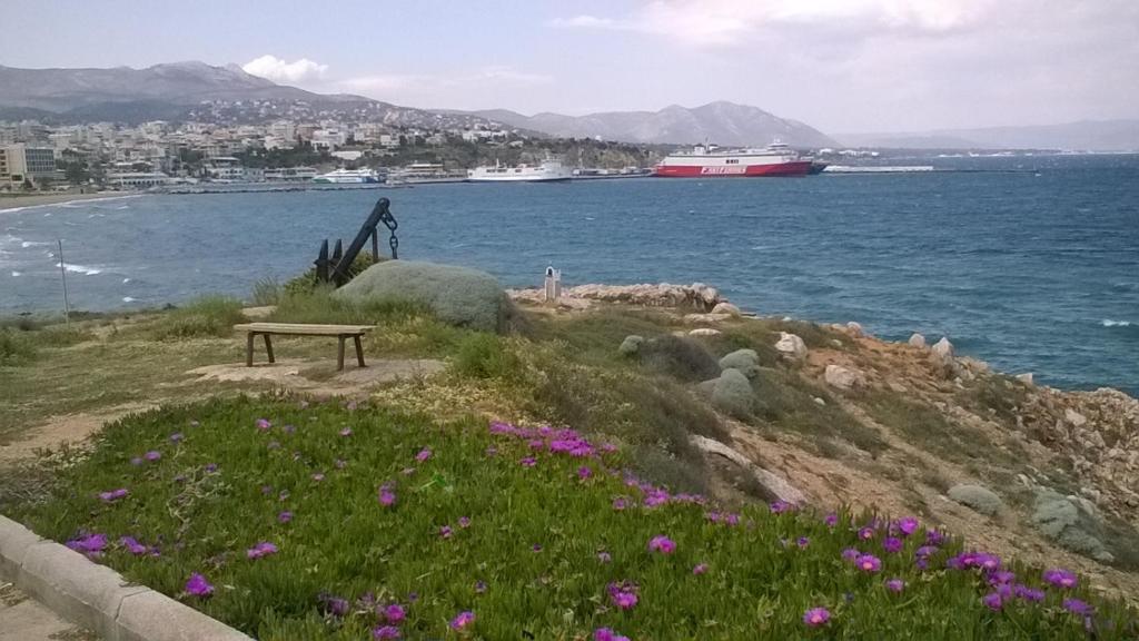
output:
[[[942,129],[924,133],[843,133],[844,145],[911,149],[1139,151],[1139,120],[1081,121],[1039,127]]]

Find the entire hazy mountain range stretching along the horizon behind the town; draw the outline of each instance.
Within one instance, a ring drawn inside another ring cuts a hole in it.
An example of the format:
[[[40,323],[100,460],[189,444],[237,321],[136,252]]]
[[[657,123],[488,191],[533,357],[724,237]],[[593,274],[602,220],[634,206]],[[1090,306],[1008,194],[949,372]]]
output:
[[[829,137],[803,122],[728,102],[699,107],[672,105],[657,112],[604,112],[582,116],[508,109],[462,112],[402,107],[350,94],[316,94],[251,75],[237,65],[200,62],[146,68],[15,68],[0,66],[0,120],[46,122],[178,120],[204,100],[276,100],[302,104],[309,113],[359,116],[395,127],[467,128],[500,123],[555,137],[601,138],[641,144],[838,146],[913,149],[1139,149],[1139,120],[1083,121],[1043,127],[993,127],[912,133],[845,133]],[[288,112],[246,108],[246,117]],[[836,140],[837,138],[837,140]]]

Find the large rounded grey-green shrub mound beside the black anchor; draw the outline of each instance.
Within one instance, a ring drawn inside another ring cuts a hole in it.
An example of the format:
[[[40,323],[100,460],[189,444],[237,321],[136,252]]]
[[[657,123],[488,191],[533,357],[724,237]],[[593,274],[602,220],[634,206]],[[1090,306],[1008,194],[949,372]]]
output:
[[[486,332],[507,331],[514,317],[513,303],[498,279],[454,265],[388,260],[372,265],[334,295],[360,305],[417,302],[444,323]]]

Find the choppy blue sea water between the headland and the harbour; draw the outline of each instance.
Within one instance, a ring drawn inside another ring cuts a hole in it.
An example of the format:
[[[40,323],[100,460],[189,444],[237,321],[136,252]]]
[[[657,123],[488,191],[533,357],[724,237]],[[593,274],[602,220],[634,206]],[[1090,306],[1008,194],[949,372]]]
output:
[[[924,161],[923,161],[924,162]],[[704,282],[765,315],[857,320],[1062,388],[1139,393],[1139,156],[962,171],[146,195],[0,211],[0,314],[154,307],[287,278],[392,200],[401,258],[506,285]]]

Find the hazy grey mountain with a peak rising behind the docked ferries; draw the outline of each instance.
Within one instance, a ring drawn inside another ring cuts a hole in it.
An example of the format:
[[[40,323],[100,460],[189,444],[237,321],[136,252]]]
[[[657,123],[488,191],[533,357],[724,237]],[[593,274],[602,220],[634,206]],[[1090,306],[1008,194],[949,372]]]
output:
[[[767,145],[775,139],[796,147],[826,147],[837,143],[795,120],[775,116],[759,107],[727,102],[687,108],[678,105],[658,112],[607,112],[583,116],[540,113],[526,116],[507,109],[474,112],[483,117],[542,131],[550,136],[623,140],[629,143]]]

